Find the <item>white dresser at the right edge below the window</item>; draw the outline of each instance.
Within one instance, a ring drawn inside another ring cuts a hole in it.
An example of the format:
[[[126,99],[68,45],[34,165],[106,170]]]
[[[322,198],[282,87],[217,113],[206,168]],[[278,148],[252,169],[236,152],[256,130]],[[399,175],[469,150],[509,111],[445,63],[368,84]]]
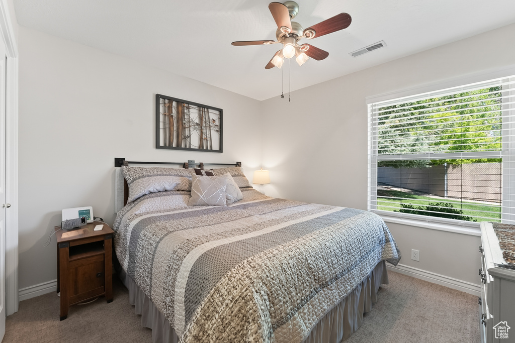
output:
[[[515,232],[515,226],[513,226]],[[515,270],[495,264],[506,264],[492,223],[481,223],[482,269],[479,321],[481,341],[515,343]],[[507,337],[506,337],[507,336]]]

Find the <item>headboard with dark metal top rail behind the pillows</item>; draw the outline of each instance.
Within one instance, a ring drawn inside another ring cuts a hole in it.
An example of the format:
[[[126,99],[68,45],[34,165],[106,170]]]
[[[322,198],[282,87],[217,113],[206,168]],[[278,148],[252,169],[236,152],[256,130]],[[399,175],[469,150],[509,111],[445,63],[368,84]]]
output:
[[[188,161],[191,162],[191,161]],[[114,166],[122,167],[128,165],[177,165],[181,166],[181,168],[188,169],[190,168],[191,163],[188,165],[188,162],[148,162],[148,161],[127,161],[123,157],[115,157],[114,158]],[[193,161],[195,162],[195,161]],[[196,166],[196,164],[194,164]],[[233,166],[233,167],[241,167],[241,162],[236,163],[202,163],[198,164],[198,167],[204,169],[204,166]],[[118,212],[125,205],[127,205],[127,200],[129,198],[129,185],[124,178],[122,173],[122,168],[116,168],[114,174],[114,210]]]

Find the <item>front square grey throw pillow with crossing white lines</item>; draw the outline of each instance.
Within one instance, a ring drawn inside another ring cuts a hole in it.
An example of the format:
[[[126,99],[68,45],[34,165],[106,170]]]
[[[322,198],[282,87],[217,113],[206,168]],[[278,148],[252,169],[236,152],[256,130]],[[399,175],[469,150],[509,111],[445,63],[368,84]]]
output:
[[[193,175],[192,197],[189,206],[225,206],[227,176],[198,176]]]

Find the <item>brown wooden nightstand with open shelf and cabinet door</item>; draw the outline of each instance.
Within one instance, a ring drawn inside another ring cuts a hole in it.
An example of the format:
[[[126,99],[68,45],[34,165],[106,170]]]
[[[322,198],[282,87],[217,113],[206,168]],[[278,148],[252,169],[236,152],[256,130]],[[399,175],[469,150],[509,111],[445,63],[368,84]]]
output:
[[[61,320],[68,316],[70,305],[105,296],[113,301],[112,242],[114,231],[104,224],[93,231],[99,222],[80,229],[61,230],[57,237],[57,292],[61,292]]]

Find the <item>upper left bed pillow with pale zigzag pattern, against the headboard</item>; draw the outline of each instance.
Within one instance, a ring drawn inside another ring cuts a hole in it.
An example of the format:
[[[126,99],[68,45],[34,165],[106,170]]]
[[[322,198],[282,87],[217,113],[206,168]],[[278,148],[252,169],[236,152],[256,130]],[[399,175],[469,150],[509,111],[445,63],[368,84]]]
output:
[[[122,166],[122,172],[129,185],[127,203],[149,193],[190,191],[192,187],[190,169]]]

